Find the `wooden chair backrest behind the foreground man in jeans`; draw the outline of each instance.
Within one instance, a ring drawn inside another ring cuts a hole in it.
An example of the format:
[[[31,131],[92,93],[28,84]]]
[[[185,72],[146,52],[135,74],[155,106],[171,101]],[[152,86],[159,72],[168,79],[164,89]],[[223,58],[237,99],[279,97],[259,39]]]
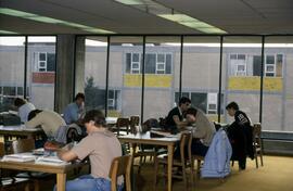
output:
[[[131,156],[124,155],[112,161],[109,177],[111,178],[111,191],[117,190],[117,177],[125,175],[126,191],[131,191],[130,183]]]

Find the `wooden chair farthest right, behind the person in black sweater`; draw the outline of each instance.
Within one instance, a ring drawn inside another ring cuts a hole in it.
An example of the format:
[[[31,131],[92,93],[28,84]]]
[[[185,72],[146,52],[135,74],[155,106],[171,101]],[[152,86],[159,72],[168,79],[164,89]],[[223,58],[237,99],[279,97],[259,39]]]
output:
[[[253,125],[253,150],[256,168],[258,168],[258,156],[260,157],[260,164],[264,166],[263,162],[263,144],[262,144],[262,124],[257,123]]]

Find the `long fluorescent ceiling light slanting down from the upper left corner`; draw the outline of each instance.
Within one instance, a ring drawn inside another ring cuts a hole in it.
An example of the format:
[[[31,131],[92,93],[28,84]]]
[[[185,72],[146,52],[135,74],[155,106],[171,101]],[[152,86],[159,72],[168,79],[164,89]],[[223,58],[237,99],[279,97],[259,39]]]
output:
[[[41,22],[41,23],[50,23],[50,24],[58,24],[58,25],[62,25],[62,26],[75,27],[75,28],[78,28],[78,29],[81,29],[85,31],[89,31],[89,33],[114,34],[114,31],[105,30],[102,28],[95,28],[95,27],[91,27],[91,26],[81,25],[78,23],[72,23],[72,22],[66,22],[66,21],[62,21],[62,20],[48,17],[48,16],[41,16],[38,14],[27,13],[24,11],[13,10],[13,9],[9,9],[9,8],[0,8],[0,14],[16,16],[16,17],[25,18],[25,20],[33,20],[33,21],[37,21],[37,22]]]

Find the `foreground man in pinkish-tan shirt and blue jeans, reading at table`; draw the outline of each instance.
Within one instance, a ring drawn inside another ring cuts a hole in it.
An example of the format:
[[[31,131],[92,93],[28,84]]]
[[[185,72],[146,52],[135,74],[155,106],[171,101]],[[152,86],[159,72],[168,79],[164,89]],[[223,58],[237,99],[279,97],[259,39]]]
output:
[[[66,162],[84,160],[89,156],[91,174],[66,182],[66,190],[111,190],[109,171],[114,157],[122,156],[122,147],[116,136],[107,130],[103,113],[92,110],[86,113],[84,123],[88,136],[77,145],[63,148],[58,156]],[[118,178],[118,190],[123,189],[123,180]]]

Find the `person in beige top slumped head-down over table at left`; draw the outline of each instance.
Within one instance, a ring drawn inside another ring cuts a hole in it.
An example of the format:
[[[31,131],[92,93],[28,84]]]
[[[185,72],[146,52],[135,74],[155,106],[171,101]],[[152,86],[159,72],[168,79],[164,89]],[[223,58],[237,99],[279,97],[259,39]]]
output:
[[[25,126],[36,128],[41,126],[48,138],[53,138],[59,127],[65,126],[64,119],[55,112],[48,110],[34,110],[28,114]]]

